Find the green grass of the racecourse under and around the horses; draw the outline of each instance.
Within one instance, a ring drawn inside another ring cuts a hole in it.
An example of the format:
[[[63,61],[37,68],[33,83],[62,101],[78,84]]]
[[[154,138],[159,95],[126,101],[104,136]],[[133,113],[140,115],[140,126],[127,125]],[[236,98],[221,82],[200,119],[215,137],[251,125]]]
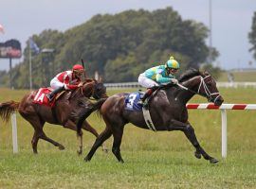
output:
[[[124,91],[134,91],[127,89]],[[108,94],[119,93],[118,90]],[[255,103],[256,89],[220,89],[226,103]],[[18,101],[27,91],[0,89],[0,101]],[[207,102],[195,96],[191,102]],[[39,141],[38,155],[30,146],[33,129],[17,114],[19,153],[12,154],[11,126],[0,121],[0,188],[255,188],[255,112],[228,111],[228,158],[221,158],[221,114],[191,110],[190,121],[201,146],[220,160],[210,164],[193,157],[183,133],[153,132],[127,125],[118,163],[111,150],[99,149],[90,163],[84,156],[95,137],[83,132],[84,152],[77,156],[76,133],[46,124],[46,134],[65,146],[58,150]],[[89,122],[99,130],[103,121],[93,114]],[[111,149],[113,139],[106,141]]]

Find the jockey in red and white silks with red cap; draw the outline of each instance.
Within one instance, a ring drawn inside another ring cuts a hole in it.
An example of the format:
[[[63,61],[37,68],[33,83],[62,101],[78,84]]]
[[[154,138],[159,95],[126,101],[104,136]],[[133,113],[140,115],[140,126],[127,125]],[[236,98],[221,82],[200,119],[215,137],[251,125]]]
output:
[[[82,86],[81,77],[84,72],[82,65],[75,64],[71,70],[64,71],[52,78],[50,86],[53,91],[46,94],[46,97],[51,101],[55,94],[61,93],[64,90],[74,90]]]

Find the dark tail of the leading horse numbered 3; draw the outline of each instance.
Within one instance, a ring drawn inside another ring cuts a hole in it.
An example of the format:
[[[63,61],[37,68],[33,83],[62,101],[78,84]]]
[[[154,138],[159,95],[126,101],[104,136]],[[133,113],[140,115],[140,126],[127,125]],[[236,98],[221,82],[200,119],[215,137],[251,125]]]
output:
[[[95,111],[100,112],[102,104],[106,101],[107,98],[101,98],[99,101],[97,101],[94,104],[90,104],[87,108],[82,109],[81,112],[79,112],[78,115],[78,121],[77,121],[77,134],[81,135],[81,129],[82,129],[82,123],[83,121],[92,113]]]

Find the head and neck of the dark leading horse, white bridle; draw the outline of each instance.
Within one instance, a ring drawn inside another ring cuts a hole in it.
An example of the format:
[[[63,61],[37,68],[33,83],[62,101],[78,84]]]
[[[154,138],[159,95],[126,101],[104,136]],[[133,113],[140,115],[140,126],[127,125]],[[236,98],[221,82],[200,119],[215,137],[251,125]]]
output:
[[[215,80],[208,72],[201,73],[198,70],[192,69],[181,76],[179,80],[187,80],[185,83],[187,83],[189,89],[191,89],[194,94],[207,97],[215,106],[220,106],[224,101],[217,89]]]

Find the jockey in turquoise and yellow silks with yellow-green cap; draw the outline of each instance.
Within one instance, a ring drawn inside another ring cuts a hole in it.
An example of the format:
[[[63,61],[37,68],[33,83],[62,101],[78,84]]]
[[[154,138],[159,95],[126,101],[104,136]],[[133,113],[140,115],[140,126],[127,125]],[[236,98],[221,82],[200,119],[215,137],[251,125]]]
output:
[[[174,77],[174,74],[179,69],[179,63],[174,60],[174,57],[170,57],[170,60],[167,60],[165,65],[158,65],[146,70],[144,73],[140,74],[138,77],[138,83],[147,88],[145,94],[137,102],[140,105],[147,105],[147,102],[144,102],[147,97],[149,97],[155,91],[155,86],[166,83],[177,84],[178,81]]]

